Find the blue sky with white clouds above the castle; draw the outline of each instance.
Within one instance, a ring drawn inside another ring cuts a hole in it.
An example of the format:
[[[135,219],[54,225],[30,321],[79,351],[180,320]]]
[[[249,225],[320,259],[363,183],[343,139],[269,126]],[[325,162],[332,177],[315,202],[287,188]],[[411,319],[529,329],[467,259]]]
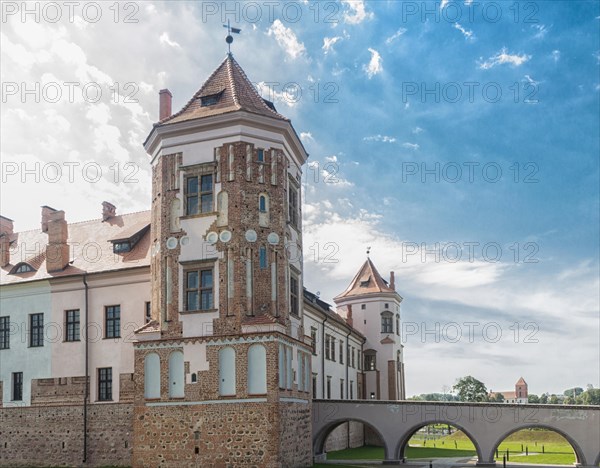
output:
[[[3,2],[0,212],[150,206],[143,141],[227,53],[292,120],[304,284],[396,272],[407,394],[600,386],[597,1]]]

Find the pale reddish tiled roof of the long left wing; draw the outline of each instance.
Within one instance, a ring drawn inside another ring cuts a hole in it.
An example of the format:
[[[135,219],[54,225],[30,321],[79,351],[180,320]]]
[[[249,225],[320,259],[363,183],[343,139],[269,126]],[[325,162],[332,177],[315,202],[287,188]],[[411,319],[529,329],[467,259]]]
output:
[[[150,232],[146,232],[131,252],[115,254],[111,239],[125,237],[132,230],[138,232],[150,224],[150,211],[140,211],[114,216],[106,221],[95,219],[68,225],[70,263],[62,271],[46,271],[46,246],[48,235],[36,229],[17,232],[11,237],[10,264],[0,268],[0,283],[15,284],[60,276],[150,265]],[[136,231],[137,229],[137,231]],[[25,262],[37,271],[23,274],[9,274],[18,263]]]

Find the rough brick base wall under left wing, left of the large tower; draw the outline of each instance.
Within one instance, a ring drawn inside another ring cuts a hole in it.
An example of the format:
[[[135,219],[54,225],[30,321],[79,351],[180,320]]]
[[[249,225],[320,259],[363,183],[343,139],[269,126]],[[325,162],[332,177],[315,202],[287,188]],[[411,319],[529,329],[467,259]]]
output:
[[[131,466],[133,405],[88,407],[88,464]],[[83,406],[0,409],[0,466],[80,466]]]

